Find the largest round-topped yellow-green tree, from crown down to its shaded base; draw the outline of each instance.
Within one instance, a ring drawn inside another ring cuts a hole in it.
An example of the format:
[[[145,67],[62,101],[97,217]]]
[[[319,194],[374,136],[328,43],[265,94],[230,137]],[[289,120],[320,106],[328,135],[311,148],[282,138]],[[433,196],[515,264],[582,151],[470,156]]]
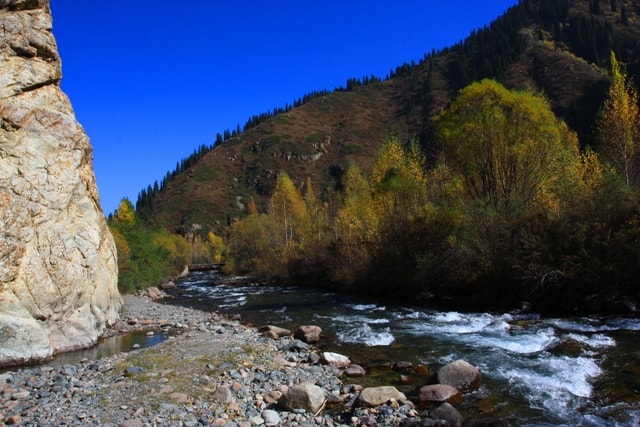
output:
[[[565,179],[578,157],[575,136],[542,97],[491,80],[464,88],[435,125],[441,161],[466,194],[467,219],[451,241],[456,256],[473,267],[466,271],[475,271],[467,280],[544,275],[538,268],[548,249],[543,230],[561,213],[560,188],[570,188]]]

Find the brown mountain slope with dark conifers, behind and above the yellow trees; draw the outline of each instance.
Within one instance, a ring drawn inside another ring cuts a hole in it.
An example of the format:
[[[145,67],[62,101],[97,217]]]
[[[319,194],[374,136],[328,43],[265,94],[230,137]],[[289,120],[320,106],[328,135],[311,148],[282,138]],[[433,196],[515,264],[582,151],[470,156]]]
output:
[[[227,135],[149,188],[148,218],[181,233],[222,233],[251,199],[266,208],[281,171],[299,186],[311,178],[331,202],[348,164],[368,171],[376,147],[392,134],[418,138],[433,159],[433,114],[481,78],[544,93],[587,145],[609,85],[611,49],[638,80],[639,8],[630,0],[523,0],[465,41],[403,64],[384,81],[352,80],[349,90],[320,94]]]

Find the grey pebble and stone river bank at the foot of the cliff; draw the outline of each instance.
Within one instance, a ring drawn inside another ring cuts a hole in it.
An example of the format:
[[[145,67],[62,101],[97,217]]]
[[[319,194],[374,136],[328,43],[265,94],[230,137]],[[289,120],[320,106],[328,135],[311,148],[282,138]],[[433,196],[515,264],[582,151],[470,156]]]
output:
[[[126,295],[121,321],[110,333],[132,330],[170,331],[171,337],[98,360],[0,373],[0,426],[436,422],[407,400],[359,407],[361,387],[341,369],[318,363],[313,347],[290,335],[268,338],[228,316]],[[329,401],[323,411],[277,406],[283,393],[302,383],[322,389]]]

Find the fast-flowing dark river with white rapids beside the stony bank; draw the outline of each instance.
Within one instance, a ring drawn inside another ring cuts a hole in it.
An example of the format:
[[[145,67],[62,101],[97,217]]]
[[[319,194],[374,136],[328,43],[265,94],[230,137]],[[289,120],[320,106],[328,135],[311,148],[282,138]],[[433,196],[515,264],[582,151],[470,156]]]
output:
[[[366,368],[365,387],[393,385],[417,399],[439,367],[463,359],[482,373],[480,389],[458,406],[463,415],[518,426],[640,425],[636,318],[443,312],[215,271],[176,284],[172,304],[240,314],[254,326],[320,326],[324,350]]]

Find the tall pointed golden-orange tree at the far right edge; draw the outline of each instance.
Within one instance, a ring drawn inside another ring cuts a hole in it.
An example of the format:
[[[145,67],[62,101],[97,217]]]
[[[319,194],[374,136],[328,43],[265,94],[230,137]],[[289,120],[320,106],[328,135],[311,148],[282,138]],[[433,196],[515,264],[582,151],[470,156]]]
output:
[[[612,51],[611,86],[598,114],[596,141],[600,152],[629,185],[637,185],[639,179],[639,138],[638,93]]]

